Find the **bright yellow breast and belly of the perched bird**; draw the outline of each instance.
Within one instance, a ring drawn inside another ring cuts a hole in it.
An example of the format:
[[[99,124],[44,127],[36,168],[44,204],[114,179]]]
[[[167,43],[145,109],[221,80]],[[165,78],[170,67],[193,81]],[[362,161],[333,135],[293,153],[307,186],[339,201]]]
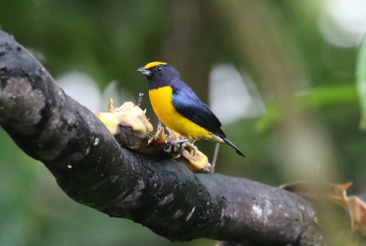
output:
[[[151,105],[164,125],[189,139],[211,139],[212,133],[178,113],[172,105],[173,89],[170,86],[149,91]]]

